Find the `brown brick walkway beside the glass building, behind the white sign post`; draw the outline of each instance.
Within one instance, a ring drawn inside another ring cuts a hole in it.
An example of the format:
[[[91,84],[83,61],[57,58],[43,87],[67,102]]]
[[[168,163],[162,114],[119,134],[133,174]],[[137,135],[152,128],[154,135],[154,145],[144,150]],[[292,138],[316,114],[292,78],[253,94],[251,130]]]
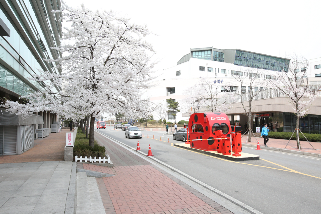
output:
[[[34,140],[34,147],[21,155],[0,156],[0,164],[64,160],[66,132],[69,130],[63,129],[60,133],[49,133],[45,138]]]

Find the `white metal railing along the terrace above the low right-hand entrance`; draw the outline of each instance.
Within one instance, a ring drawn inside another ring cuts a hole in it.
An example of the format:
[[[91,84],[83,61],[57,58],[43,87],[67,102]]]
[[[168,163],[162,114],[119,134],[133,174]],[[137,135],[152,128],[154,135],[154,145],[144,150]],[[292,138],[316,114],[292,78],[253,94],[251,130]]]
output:
[[[309,97],[321,97],[321,86],[319,85],[309,85],[307,90],[304,93],[304,96]],[[237,103],[242,101],[248,101],[251,96],[255,95],[257,92],[254,91],[253,94],[249,94],[248,92],[243,93],[242,96],[235,95],[233,97],[228,98],[227,103]],[[266,99],[266,98],[274,98],[274,97],[287,97],[286,94],[280,89],[267,89],[261,90],[258,94],[256,94],[252,100],[258,99]]]

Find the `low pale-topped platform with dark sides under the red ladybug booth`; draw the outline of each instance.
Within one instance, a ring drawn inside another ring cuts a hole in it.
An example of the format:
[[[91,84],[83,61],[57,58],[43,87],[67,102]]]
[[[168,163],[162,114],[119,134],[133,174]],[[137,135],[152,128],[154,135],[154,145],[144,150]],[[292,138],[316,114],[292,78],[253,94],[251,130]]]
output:
[[[252,154],[248,154],[245,152],[240,152],[240,154],[241,154],[240,157],[234,157],[232,155],[222,155],[220,153],[217,153],[217,151],[203,151],[203,150],[191,148],[190,144],[186,144],[186,143],[175,143],[174,145],[177,147],[180,147],[180,148],[184,148],[184,149],[188,149],[188,150],[192,150],[192,151],[197,151],[199,153],[203,153],[206,155],[212,155],[212,156],[215,156],[218,158],[228,159],[228,160],[232,160],[232,161],[259,160],[260,159],[260,156],[258,156],[258,155],[252,155]]]

